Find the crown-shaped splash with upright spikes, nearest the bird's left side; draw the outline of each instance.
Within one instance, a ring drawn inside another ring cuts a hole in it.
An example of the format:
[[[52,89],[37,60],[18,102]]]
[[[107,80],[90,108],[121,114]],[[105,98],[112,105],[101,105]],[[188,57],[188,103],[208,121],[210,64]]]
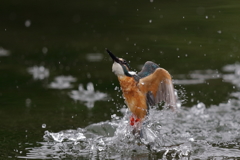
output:
[[[69,96],[76,101],[84,102],[88,108],[93,108],[95,101],[106,100],[108,97],[106,93],[94,91],[92,82],[87,84],[86,90],[83,88],[82,84],[79,84],[78,90],[71,91]]]

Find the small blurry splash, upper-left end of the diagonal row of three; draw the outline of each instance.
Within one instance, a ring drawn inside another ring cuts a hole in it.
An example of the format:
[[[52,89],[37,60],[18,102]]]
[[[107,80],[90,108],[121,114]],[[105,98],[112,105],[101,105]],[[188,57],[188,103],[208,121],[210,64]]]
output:
[[[44,66],[33,66],[27,69],[27,71],[33,75],[33,79],[42,80],[49,77],[49,70]]]

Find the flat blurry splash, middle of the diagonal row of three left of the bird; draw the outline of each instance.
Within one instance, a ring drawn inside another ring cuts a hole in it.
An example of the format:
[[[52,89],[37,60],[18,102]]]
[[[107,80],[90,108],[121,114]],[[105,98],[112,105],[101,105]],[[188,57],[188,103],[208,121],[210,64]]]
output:
[[[48,87],[53,89],[69,89],[73,87],[71,82],[75,82],[76,80],[77,79],[72,76],[58,76]]]

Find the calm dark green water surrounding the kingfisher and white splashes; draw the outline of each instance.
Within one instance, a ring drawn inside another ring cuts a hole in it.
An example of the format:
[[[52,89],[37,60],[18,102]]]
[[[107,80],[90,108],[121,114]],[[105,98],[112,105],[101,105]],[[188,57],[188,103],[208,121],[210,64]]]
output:
[[[29,146],[44,141],[46,130],[84,128],[122,116],[124,100],[114,90],[118,81],[105,48],[137,71],[147,60],[167,69],[175,88],[184,90],[184,108],[238,101],[232,96],[239,93],[238,70],[234,81],[223,67],[240,60],[239,8],[237,0],[0,2],[0,157],[26,156]],[[44,66],[49,76],[34,78],[28,72],[34,66]],[[193,73],[203,82],[189,85]],[[221,76],[202,78],[215,73]],[[49,87],[61,75],[76,78],[72,88]],[[69,96],[89,82],[108,95],[92,108]],[[228,148],[239,150],[238,145]]]

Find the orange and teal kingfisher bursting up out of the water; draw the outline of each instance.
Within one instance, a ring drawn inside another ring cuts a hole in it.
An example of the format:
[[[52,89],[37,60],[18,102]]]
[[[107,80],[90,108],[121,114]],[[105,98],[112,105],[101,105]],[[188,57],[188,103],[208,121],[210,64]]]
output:
[[[113,59],[112,71],[118,77],[125,103],[132,112],[130,125],[142,124],[150,106],[164,101],[173,110],[176,97],[171,75],[156,63],[147,61],[139,73],[130,71],[123,58],[116,57],[106,49]]]

